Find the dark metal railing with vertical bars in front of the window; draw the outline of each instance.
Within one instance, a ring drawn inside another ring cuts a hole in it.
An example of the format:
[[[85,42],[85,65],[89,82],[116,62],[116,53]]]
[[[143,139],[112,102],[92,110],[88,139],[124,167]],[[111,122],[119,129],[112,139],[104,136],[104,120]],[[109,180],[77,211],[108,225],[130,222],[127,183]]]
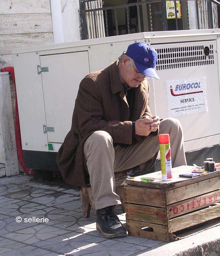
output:
[[[90,13],[94,17],[94,25],[95,28],[97,28],[97,22],[96,22],[96,13],[98,11],[103,11],[104,12],[104,19],[105,19],[105,31],[106,31],[106,36],[109,36],[109,24],[108,24],[108,10],[113,10],[114,12],[114,30],[116,31],[116,35],[119,35],[119,25],[118,25],[118,19],[117,19],[117,10],[120,8],[124,8],[126,10],[126,34],[130,33],[130,19],[129,19],[129,8],[132,6],[136,6],[137,8],[137,25],[138,25],[138,31],[142,32],[143,31],[143,11],[142,7],[145,5],[147,9],[147,16],[148,16],[148,31],[153,31],[153,17],[155,16],[155,13],[152,13],[152,4],[154,3],[160,3],[160,15],[161,15],[161,21],[162,21],[162,30],[166,31],[168,29],[168,22],[167,22],[167,10],[166,10],[166,1],[165,0],[147,0],[147,1],[142,1],[142,2],[135,2],[135,3],[127,3],[127,4],[120,4],[120,5],[115,5],[115,6],[107,6],[107,7],[102,7],[102,8],[93,8],[90,10],[85,9],[85,3],[88,2],[93,2],[94,0],[80,0],[80,23],[81,23],[81,37],[82,39],[87,39],[87,26],[86,26],[86,14]],[[137,0],[139,1],[139,0]],[[213,28],[213,23],[212,23],[212,7],[211,3],[217,4],[218,7],[220,7],[220,1],[217,0],[190,0],[191,2],[194,1],[196,3],[196,9],[197,9],[197,22],[198,22],[198,29],[200,28],[199,24],[199,12],[198,9],[200,8],[201,4],[204,4],[205,6],[205,12],[206,12],[206,17],[207,17],[207,24],[208,28]],[[119,1],[120,2],[120,1]],[[174,6],[176,6],[176,2],[174,1]],[[184,17],[184,23],[185,27],[184,29],[189,29],[189,17],[188,17],[188,5],[187,2],[188,0],[181,0],[179,1],[181,3],[181,6],[184,7],[185,9],[185,17]],[[176,30],[179,30],[179,22],[177,18],[177,9],[174,8],[175,11],[175,26]],[[95,37],[97,37],[97,30],[95,29]]]

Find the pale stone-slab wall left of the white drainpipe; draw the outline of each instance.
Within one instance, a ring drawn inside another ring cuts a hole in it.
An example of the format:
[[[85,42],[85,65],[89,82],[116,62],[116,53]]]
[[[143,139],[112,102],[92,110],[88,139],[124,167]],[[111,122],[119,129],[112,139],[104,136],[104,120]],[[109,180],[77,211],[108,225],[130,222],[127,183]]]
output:
[[[53,43],[50,0],[1,0],[0,67],[13,66],[11,50]]]

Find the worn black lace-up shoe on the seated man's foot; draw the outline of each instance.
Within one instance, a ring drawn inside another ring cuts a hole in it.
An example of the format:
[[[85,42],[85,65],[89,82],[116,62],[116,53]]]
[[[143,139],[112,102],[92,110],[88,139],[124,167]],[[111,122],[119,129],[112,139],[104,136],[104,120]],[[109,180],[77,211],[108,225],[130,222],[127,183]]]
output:
[[[115,206],[96,210],[96,229],[106,238],[127,235],[125,226],[120,222],[115,213]]]

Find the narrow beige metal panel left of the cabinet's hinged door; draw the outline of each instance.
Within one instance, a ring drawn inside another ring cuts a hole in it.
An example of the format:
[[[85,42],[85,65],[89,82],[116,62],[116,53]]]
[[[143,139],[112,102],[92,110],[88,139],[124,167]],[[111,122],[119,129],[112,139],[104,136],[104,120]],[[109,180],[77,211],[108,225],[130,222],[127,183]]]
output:
[[[23,150],[47,151],[47,134],[40,64],[36,52],[13,55]]]

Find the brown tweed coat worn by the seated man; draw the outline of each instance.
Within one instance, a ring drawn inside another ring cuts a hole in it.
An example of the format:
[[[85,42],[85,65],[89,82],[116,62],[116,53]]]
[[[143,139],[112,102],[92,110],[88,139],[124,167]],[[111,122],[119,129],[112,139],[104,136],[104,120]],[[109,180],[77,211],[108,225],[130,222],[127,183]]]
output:
[[[150,114],[149,84],[143,81],[135,88],[133,112],[117,72],[117,61],[104,70],[83,78],[72,116],[72,127],[57,154],[57,164],[63,179],[75,186],[86,186],[88,174],[83,165],[83,145],[94,131],[107,131],[114,143],[132,143],[132,121]],[[130,121],[128,121],[130,120]],[[158,131],[151,133],[158,135]],[[137,142],[141,136],[136,136]]]

